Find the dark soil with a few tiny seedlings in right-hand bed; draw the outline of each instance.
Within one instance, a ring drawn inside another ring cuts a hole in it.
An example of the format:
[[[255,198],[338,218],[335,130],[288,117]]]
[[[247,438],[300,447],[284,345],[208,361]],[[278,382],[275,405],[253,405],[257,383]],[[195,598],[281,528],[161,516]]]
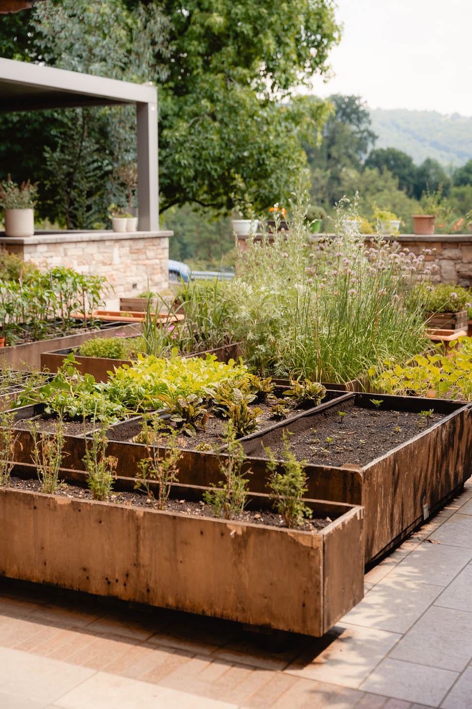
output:
[[[345,415],[341,416],[338,411]],[[340,406],[313,414],[289,427],[289,444],[298,460],[315,465],[365,465],[392,448],[430,428],[444,415],[433,413],[430,418],[410,411],[378,411],[343,401]],[[284,445],[282,431],[263,437],[280,458]],[[267,457],[261,441],[248,442],[247,454]]]

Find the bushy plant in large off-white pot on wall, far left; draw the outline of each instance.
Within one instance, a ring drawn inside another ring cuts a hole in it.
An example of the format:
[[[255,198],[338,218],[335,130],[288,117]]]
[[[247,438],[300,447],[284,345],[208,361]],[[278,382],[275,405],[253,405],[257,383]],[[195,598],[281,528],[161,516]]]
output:
[[[6,236],[33,236],[35,233],[35,203],[37,183],[22,182],[18,186],[10,174],[0,184],[0,207],[4,209]]]

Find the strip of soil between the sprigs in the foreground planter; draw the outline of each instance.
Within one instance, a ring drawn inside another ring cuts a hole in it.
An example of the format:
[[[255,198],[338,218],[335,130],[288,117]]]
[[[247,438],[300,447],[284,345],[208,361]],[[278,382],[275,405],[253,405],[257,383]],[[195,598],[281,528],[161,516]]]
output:
[[[16,488],[19,490],[28,490],[31,492],[40,492],[40,481],[39,480],[23,480],[21,478],[11,477],[10,484],[8,487]],[[75,485],[69,485],[68,483],[62,482],[59,489],[55,493],[61,497],[75,498],[79,500],[93,500],[91,491],[84,489]],[[110,496],[110,503],[116,505],[122,505],[126,507],[144,507],[151,509],[153,508],[154,501],[151,498],[146,497],[142,493],[132,493],[132,492],[115,492]],[[216,515],[213,514],[212,508],[201,502],[189,502],[187,500],[168,500],[164,506],[164,511],[166,512],[179,512],[184,515],[192,515],[194,517],[212,517]],[[238,522],[248,522],[253,525],[269,525],[270,527],[285,527],[284,520],[280,515],[269,512],[267,510],[244,510],[241,515],[237,515],[234,520]],[[315,530],[322,530],[327,527],[333,520],[329,517],[325,519],[312,519],[307,520],[302,530],[311,532]]]

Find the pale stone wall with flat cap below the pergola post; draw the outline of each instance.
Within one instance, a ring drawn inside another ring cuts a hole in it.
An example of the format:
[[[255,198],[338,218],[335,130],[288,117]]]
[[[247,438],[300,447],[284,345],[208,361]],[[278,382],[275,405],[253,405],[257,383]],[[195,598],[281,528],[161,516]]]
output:
[[[18,253],[40,268],[65,266],[79,273],[105,276],[115,293],[107,307],[119,298],[137,296],[148,286],[154,291],[168,287],[168,251],[171,231],[114,233],[112,231],[37,233],[25,238],[0,235],[1,248]]]

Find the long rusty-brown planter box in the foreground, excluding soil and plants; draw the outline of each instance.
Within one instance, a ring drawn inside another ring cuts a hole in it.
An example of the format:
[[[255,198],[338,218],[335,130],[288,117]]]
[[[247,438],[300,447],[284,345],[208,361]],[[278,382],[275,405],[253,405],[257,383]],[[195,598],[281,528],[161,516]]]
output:
[[[302,532],[2,488],[0,574],[321,636],[363,596],[362,508],[307,504],[333,523]]]

